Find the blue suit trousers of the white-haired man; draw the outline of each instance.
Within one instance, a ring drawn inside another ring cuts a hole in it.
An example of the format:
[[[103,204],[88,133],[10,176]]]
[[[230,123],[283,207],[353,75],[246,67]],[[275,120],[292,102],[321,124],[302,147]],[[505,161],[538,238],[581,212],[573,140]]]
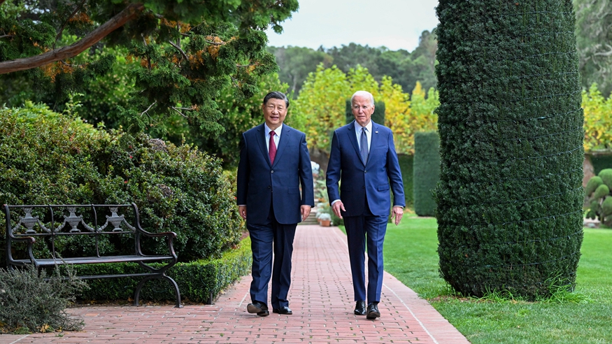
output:
[[[353,275],[355,301],[379,302],[383,289],[383,242],[387,233],[387,216],[373,215],[366,206],[360,216],[345,216],[350,271]],[[368,248],[368,286],[366,299],[365,249]]]

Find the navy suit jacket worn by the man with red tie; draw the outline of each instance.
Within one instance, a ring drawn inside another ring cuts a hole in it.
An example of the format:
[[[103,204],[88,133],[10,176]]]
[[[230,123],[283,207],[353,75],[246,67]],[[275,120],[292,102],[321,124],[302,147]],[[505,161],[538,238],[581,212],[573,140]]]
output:
[[[306,134],[283,124],[274,164],[270,164],[264,125],[243,134],[236,201],[246,205],[247,223],[265,224],[271,202],[278,223],[301,222],[300,206],[315,206]]]

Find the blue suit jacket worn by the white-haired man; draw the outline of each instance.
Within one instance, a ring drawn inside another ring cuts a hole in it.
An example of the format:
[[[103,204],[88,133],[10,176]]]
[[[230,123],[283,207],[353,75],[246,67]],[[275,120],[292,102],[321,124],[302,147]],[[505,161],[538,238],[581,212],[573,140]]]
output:
[[[327,194],[329,201],[340,199],[346,208],[343,216],[359,216],[364,213],[367,195],[373,215],[389,215],[393,192],[393,206],[406,206],[404,183],[393,134],[387,127],[372,122],[372,140],[367,165],[360,155],[355,121],[334,131],[332,152],[327,165]],[[342,181],[340,190],[339,181]]]

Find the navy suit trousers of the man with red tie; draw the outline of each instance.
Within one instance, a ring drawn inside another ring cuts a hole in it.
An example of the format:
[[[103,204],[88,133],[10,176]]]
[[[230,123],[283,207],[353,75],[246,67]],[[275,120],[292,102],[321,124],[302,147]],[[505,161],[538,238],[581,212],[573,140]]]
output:
[[[268,303],[268,283],[272,278],[271,306],[289,306],[287,294],[291,285],[291,257],[297,224],[280,224],[276,221],[273,207],[267,223],[246,225],[253,255],[252,282],[250,296],[252,301]],[[272,252],[274,259],[272,264]]]

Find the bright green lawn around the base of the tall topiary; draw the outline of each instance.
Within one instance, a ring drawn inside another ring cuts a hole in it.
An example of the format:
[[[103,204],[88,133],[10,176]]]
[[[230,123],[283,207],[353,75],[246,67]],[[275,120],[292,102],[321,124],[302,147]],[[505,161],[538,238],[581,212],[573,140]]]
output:
[[[612,230],[585,229],[576,292],[583,303],[475,301],[448,296],[438,273],[436,220],[390,224],[385,271],[411,287],[471,343],[612,343]]]

